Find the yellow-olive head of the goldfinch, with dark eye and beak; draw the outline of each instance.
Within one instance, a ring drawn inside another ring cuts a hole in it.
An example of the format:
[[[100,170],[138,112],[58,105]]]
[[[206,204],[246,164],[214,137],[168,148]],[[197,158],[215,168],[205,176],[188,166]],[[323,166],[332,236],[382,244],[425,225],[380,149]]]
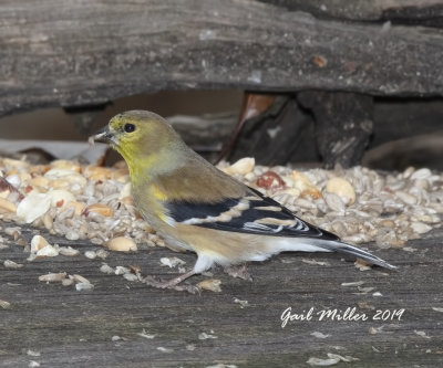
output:
[[[186,149],[163,117],[145,111],[114,116],[90,139],[110,144],[123,156],[131,171],[153,170],[161,160],[177,161],[177,154]]]

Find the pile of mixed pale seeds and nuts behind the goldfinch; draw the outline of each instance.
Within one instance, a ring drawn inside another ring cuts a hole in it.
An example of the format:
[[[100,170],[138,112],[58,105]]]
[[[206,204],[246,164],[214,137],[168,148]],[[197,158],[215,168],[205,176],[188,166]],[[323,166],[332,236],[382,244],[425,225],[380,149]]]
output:
[[[426,168],[400,174],[362,167],[293,170],[256,166],[251,158],[219,168],[350,243],[401,248],[441,225],[443,175]],[[66,160],[31,166],[0,158],[0,219],[116,250],[125,239],[132,241],[128,246],[164,245],[137,213],[128,180],[124,162],[113,168]]]

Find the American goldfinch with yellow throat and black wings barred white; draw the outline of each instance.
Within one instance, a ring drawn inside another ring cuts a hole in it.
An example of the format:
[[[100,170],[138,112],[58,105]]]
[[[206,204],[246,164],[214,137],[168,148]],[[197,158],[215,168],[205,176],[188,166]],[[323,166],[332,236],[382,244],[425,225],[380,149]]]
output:
[[[174,249],[197,253],[192,271],[167,282],[152,278],[154,286],[174,287],[214,264],[265,261],[287,251],[340,252],[394,269],[218,170],[154,113],[119,114],[91,139],[123,156],[134,202],[157,233]]]

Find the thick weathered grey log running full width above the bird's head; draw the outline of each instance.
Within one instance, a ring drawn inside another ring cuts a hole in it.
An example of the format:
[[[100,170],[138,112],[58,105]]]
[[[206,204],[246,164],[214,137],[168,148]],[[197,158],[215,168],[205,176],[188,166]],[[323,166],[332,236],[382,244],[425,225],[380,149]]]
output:
[[[318,20],[248,0],[7,0],[0,115],[165,88],[443,95],[435,29]]]

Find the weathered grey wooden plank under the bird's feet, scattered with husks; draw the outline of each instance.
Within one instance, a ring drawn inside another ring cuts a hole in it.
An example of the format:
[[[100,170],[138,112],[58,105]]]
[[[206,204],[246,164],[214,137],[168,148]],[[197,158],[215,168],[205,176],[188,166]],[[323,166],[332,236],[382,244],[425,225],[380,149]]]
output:
[[[23,230],[27,241],[34,232]],[[433,309],[443,307],[441,230],[411,241],[414,252],[369,246],[399,265],[399,272],[361,272],[333,254],[292,253],[251,264],[254,282],[215,271],[223,292],[202,295],[159,291],[106,275],[99,271],[101,260],[84,256],[27,262],[22,248],[3,232],[1,236],[10,243],[0,251],[1,261],[9,259],[24,267],[0,265],[0,298],[11,303],[11,308],[0,308],[0,367],[28,367],[32,360],[41,367],[298,367],[307,366],[310,357],[327,358],[327,353],[360,359],[347,367],[437,367],[443,362],[443,314]],[[100,249],[84,241],[45,236],[81,252]],[[174,271],[159,266],[159,257],[174,255],[166,249],[152,249],[112,253],[105,262],[137,264],[143,273],[171,277]],[[178,256],[189,266],[195,261],[193,254]],[[307,264],[303,259],[328,265]],[[39,282],[38,276],[48,272],[81,274],[95,288],[76,292],[73,286]],[[359,281],[364,282],[361,287],[373,290],[364,294],[358,286],[342,286]],[[241,308],[236,298],[248,305]],[[357,307],[369,320],[318,320],[315,315],[281,328],[280,316],[287,307],[298,314],[311,307],[315,313]],[[400,308],[405,309],[401,320],[372,318],[377,309]],[[371,328],[379,332],[371,334]],[[155,337],[138,335],[143,329]],[[318,338],[311,335],[315,332],[329,336]],[[214,338],[200,339],[203,333]],[[121,339],[112,340],[113,336]]]

